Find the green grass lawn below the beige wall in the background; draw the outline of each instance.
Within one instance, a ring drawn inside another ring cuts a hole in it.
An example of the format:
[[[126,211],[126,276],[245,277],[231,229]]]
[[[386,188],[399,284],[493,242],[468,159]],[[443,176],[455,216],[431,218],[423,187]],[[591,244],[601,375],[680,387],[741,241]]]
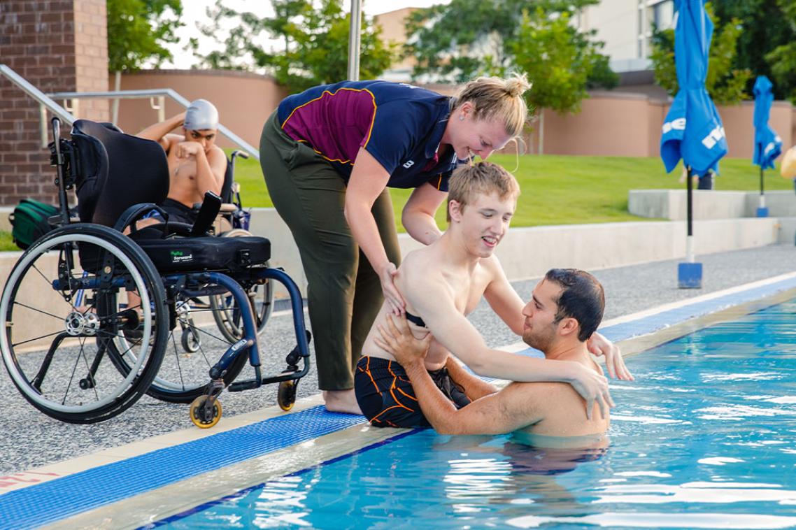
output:
[[[572,157],[557,155],[496,154],[491,162],[512,170],[520,182],[522,195],[517,203],[512,226],[540,224],[608,223],[642,220],[627,212],[630,189],[685,189],[680,183],[681,166],[665,173],[660,158]],[[748,158],[724,158],[716,189],[759,189],[759,169]],[[259,162],[253,158],[236,162],[236,179],[240,182],[244,206],[272,206],[263,181]],[[767,190],[793,189],[793,181],[779,176],[779,169],[767,170]],[[396,223],[406,203],[408,189],[391,189]],[[437,212],[437,223],[445,226],[444,208]]]

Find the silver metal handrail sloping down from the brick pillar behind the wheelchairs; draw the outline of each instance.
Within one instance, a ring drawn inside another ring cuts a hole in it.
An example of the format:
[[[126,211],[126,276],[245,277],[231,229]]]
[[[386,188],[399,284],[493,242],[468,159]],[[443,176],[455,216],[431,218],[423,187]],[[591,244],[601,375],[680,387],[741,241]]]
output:
[[[58,99],[81,99],[81,98],[109,98],[109,99],[142,99],[142,98],[155,98],[158,97],[160,99],[160,104],[158,105],[159,111],[159,121],[163,121],[165,118],[163,116],[164,105],[163,99],[168,96],[171,99],[174,99],[175,102],[182,105],[183,107],[187,108],[190,105],[190,101],[185,99],[183,96],[179,95],[177,92],[174,92],[171,88],[155,88],[152,90],[119,90],[116,92],[55,92],[53,94],[45,94],[41,92],[38,88],[34,87],[32,84],[25,80],[24,77],[20,76],[17,72],[14,72],[11,68],[9,68],[6,64],[0,64],[0,75],[5,76],[8,80],[12,83],[17,85],[19,88],[22,89],[26,94],[28,94],[33,99],[39,103],[39,115],[41,121],[41,146],[47,146],[47,132],[48,132],[48,124],[47,124],[47,111],[53,113],[53,115],[57,115],[64,123],[68,123],[72,125],[75,123],[75,116],[72,115],[71,112],[67,111],[64,107],[61,107],[58,103],[56,103],[53,98]],[[154,106],[154,105],[153,105]],[[218,125],[218,131],[221,134],[224,134],[227,138],[235,142],[238,146],[242,147],[248,154],[252,155],[252,157],[259,160],[259,151],[256,150],[254,147],[250,146],[248,142],[245,142],[243,138],[240,138],[237,134],[230,131],[227,127],[223,125]]]

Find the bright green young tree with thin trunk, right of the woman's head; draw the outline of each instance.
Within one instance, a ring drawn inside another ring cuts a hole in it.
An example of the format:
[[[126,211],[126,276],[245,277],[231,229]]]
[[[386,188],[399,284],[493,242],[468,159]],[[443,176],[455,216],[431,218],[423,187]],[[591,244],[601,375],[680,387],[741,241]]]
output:
[[[540,8],[533,14],[525,12],[512,43],[514,63],[533,80],[528,99],[539,116],[539,154],[544,150],[544,109],[579,112],[581,101],[588,97],[591,74],[611,72],[607,58],[599,53],[603,44],[590,41],[569,20],[567,11],[558,16]]]

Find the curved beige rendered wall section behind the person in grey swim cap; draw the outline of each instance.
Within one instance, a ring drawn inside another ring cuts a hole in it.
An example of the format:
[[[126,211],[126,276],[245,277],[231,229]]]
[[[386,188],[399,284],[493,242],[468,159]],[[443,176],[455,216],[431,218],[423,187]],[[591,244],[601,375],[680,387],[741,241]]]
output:
[[[287,95],[271,76],[250,72],[144,70],[122,76],[122,90],[147,88],[172,88],[189,100],[208,99],[218,108],[221,123],[255,148],[263,123]],[[183,110],[166,98],[166,117]],[[150,107],[149,99],[127,99],[119,104],[119,127],[127,133],[135,134],[157,121],[158,111]],[[234,146],[223,136],[218,145]]]

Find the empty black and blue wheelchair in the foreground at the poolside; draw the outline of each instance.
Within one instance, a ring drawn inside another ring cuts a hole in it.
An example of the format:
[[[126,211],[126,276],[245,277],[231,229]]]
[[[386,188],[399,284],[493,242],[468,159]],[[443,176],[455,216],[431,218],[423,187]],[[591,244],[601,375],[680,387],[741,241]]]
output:
[[[267,266],[270,242],[209,236],[220,210],[220,197],[212,193],[193,226],[169,222],[156,205],[169,185],[166,154],[157,142],[88,120],[73,124],[70,140],[60,138],[59,119],[53,118],[52,129],[60,214],[50,223],[56,228],[25,251],[0,297],[6,322],[0,352],[19,392],[39,411],[69,423],[110,419],[148,394],[190,403],[191,421],[213,427],[225,388],[271,383],[279,384],[279,406],[290,410],[298,380],[310,368],[310,333],[298,286]],[[75,219],[68,208],[72,189]],[[165,224],[137,229],[136,221],[153,210]],[[296,346],[283,372],[263,376],[252,292],[273,282],[290,296]],[[190,301],[214,297],[221,311],[233,314],[236,331],[231,339],[215,337],[224,353],[212,362],[201,347],[178,351],[175,331],[193,319],[185,318]],[[247,361],[254,377],[236,380]]]

